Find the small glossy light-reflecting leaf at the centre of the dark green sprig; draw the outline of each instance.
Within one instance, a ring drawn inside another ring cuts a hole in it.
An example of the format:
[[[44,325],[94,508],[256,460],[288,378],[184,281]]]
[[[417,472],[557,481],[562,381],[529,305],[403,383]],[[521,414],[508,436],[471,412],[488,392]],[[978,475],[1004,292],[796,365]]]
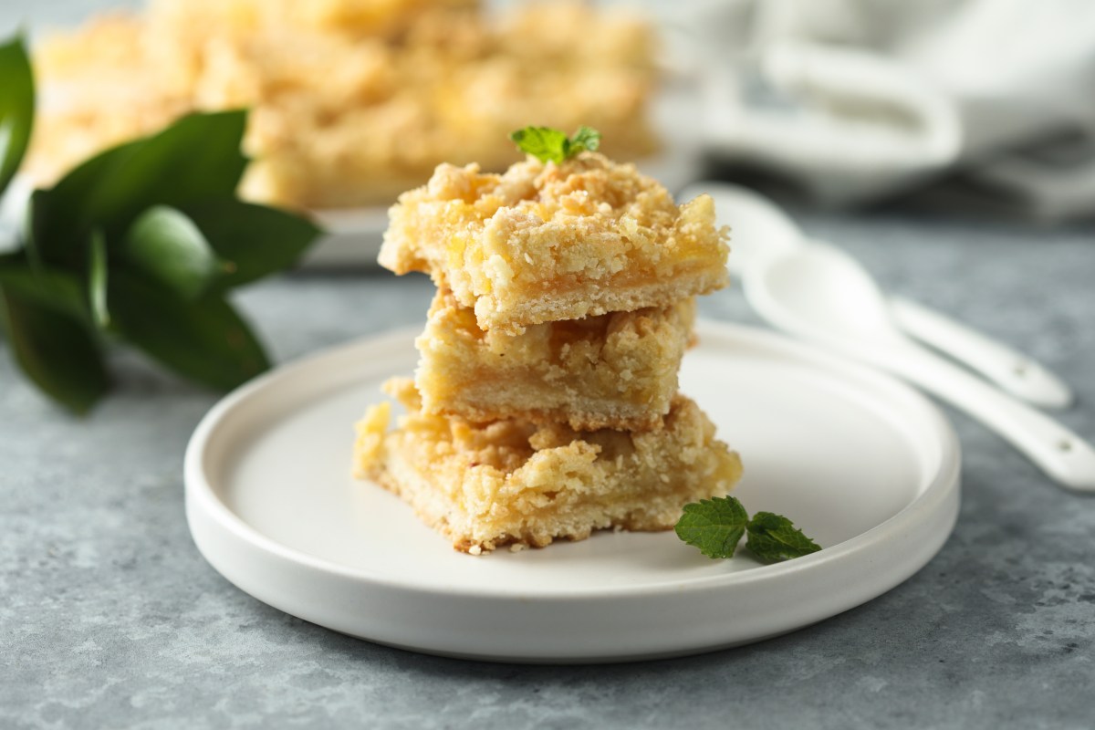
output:
[[[222,263],[194,221],[168,206],[141,213],[126,232],[118,253],[130,269],[187,300],[205,293],[222,270]]]

